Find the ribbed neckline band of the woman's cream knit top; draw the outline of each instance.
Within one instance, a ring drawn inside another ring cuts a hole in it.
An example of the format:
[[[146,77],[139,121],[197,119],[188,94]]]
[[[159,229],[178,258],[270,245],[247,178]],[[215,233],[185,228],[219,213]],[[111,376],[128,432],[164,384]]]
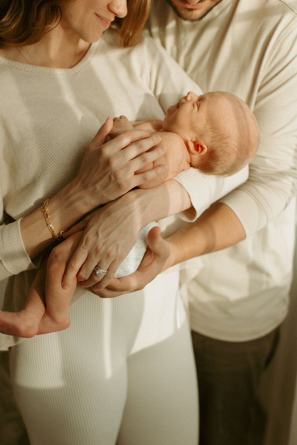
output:
[[[16,62],[11,59],[5,59],[5,57],[0,57],[0,65],[6,65],[10,68],[20,69],[22,71],[29,71],[31,73],[39,73],[39,74],[77,74],[86,65],[90,63],[93,59],[94,54],[98,50],[102,41],[102,37],[95,42],[90,44],[90,48],[85,53],[84,57],[72,68],[50,68],[47,66],[39,66],[39,65],[30,65],[28,63]]]

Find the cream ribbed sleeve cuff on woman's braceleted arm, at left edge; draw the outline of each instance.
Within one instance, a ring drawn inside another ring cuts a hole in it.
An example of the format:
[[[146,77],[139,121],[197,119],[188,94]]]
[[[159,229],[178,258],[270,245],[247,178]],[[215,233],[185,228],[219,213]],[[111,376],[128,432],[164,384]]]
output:
[[[0,227],[0,279],[35,269],[20,234],[20,219]]]

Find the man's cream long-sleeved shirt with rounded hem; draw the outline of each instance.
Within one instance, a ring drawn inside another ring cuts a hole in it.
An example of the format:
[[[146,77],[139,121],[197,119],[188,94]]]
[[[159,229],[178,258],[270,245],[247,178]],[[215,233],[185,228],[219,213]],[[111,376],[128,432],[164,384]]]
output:
[[[221,201],[246,239],[201,257],[188,285],[191,328],[229,341],[264,336],[285,318],[297,184],[297,1],[222,0],[202,20],[155,0],[151,36],[206,91],[246,101],[260,128],[248,181]]]

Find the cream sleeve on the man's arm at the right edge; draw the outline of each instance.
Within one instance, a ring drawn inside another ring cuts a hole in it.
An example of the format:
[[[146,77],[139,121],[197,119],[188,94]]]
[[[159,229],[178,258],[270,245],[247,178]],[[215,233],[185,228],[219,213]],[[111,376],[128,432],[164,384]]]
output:
[[[297,190],[297,26],[293,24],[279,36],[263,67],[253,110],[260,145],[248,181],[221,199],[236,213],[247,236],[277,217]]]

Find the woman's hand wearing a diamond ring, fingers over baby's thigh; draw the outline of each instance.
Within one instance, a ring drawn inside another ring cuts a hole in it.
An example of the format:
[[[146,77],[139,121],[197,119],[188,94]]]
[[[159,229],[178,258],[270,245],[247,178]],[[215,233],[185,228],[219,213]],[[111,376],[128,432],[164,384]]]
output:
[[[77,223],[65,234],[65,238],[81,230],[84,230],[84,235],[68,263],[62,287],[68,288],[75,275],[83,282],[83,287],[90,287],[99,280],[102,280],[102,286],[106,286],[134,246],[144,225],[142,210],[133,192],[106,204]],[[93,272],[97,265],[108,270],[103,278]]]

